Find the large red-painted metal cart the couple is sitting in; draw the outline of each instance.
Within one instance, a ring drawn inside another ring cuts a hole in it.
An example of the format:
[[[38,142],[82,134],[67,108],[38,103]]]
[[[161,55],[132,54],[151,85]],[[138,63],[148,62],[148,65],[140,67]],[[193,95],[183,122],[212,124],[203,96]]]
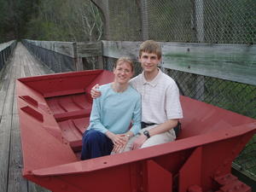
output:
[[[218,177],[230,174],[232,160],[255,133],[255,119],[185,96],[181,96],[183,130],[177,141],[80,161],[90,89],[112,80],[113,73],[101,70],[17,81],[24,177],[55,192],[200,192],[241,184],[221,184]],[[189,179],[190,175],[195,177]]]

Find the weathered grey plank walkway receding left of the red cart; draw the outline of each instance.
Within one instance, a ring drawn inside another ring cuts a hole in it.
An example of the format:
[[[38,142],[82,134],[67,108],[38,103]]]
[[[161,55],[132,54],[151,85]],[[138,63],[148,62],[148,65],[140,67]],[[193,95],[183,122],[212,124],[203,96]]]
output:
[[[0,73],[0,192],[48,191],[21,175],[23,164],[15,98],[16,79],[46,73],[52,72],[20,43]]]

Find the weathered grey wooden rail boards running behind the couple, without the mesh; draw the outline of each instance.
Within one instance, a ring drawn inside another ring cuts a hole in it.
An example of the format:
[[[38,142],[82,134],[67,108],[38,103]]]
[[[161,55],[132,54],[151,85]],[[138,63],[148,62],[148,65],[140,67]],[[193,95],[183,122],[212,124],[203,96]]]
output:
[[[24,40],[30,46],[67,55],[73,58],[73,69],[82,70],[82,58],[98,56],[119,58],[129,56],[138,59],[142,42],[52,42]],[[256,45],[246,44],[186,44],[160,42],[161,67],[212,78],[225,79],[242,84],[256,85]],[[39,57],[39,52],[35,53]],[[102,66],[102,59],[99,60]]]

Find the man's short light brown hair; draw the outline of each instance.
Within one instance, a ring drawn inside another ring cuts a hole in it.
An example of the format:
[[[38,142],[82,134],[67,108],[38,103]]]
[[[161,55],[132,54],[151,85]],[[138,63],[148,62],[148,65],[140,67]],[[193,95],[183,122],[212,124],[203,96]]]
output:
[[[143,52],[153,53],[158,56],[158,59],[160,59],[162,56],[162,50],[161,50],[160,44],[154,40],[144,41],[143,44],[140,45],[140,50],[139,50],[140,57],[142,56]]]

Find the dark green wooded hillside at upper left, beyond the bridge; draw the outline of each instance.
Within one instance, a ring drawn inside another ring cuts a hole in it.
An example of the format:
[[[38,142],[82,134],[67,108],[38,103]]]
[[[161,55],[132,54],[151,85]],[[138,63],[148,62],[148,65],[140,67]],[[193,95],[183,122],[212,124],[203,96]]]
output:
[[[103,33],[102,14],[90,0],[0,0],[0,26],[0,43],[94,41]]]

